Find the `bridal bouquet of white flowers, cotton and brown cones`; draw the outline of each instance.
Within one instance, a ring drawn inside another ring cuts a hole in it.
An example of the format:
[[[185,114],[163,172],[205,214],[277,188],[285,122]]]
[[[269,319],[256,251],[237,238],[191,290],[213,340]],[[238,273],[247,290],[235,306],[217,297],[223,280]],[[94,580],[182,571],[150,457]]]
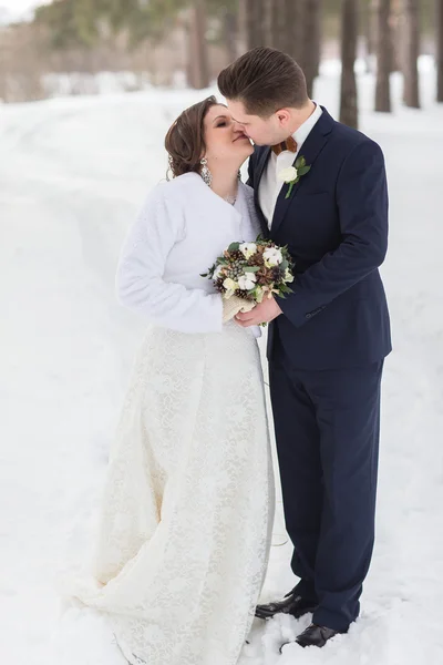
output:
[[[291,293],[292,270],[288,248],[258,236],[255,243],[231,243],[202,277],[212,279],[225,299],[237,296],[256,304]]]

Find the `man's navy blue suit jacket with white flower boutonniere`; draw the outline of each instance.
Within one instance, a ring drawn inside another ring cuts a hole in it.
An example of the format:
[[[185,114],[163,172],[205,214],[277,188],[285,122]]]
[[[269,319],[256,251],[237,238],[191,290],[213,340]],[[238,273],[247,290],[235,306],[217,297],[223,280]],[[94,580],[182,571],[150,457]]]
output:
[[[279,194],[270,231],[258,186],[270,147],[256,147],[248,184],[262,233],[288,245],[296,262],[293,293],[278,299],[282,315],[269,327],[268,358],[278,335],[300,369],[375,362],[391,351],[387,298],[379,274],[388,248],[388,187],[380,146],[323,113],[300,155],[311,165],[286,198]],[[299,155],[299,156],[300,156]]]

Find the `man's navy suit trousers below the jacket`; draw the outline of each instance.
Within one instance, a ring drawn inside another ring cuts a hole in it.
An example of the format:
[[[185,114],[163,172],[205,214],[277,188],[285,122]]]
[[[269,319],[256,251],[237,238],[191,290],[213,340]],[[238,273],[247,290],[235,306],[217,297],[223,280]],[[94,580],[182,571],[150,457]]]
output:
[[[383,361],[299,370],[276,342],[270,393],[297,591],[318,603],[313,623],[347,631],[374,542]]]

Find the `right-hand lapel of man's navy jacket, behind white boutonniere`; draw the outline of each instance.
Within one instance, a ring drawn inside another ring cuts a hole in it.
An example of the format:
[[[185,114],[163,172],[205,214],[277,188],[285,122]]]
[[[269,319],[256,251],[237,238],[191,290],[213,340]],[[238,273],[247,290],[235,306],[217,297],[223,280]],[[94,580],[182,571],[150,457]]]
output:
[[[300,177],[297,185],[295,185],[292,187],[292,192],[291,192],[291,195],[289,198],[286,198],[286,195],[289,190],[289,184],[285,183],[284,186],[281,187],[281,191],[277,198],[276,209],[274,211],[274,217],[272,217],[272,224],[271,224],[271,233],[272,234],[275,234],[277,232],[277,229],[281,225],[282,221],[285,219],[286,213],[288,212],[290,204],[293,202],[300,187],[305,183],[305,178],[312,177],[315,162],[316,162],[317,157],[319,156],[319,154],[321,153],[321,151],[323,150],[324,145],[328,143],[329,134],[332,131],[332,127],[333,127],[336,121],[329,115],[328,111],[326,109],[323,109],[323,106],[322,106],[322,111],[323,111],[323,113],[319,117],[319,121],[312,127],[312,131],[309,134],[309,136],[307,137],[307,140],[305,141],[305,143],[302,144],[301,150],[300,150],[299,154],[297,155],[297,158],[293,161],[293,165],[295,165],[298,157],[303,156],[306,158],[307,165],[311,166],[311,171]]]

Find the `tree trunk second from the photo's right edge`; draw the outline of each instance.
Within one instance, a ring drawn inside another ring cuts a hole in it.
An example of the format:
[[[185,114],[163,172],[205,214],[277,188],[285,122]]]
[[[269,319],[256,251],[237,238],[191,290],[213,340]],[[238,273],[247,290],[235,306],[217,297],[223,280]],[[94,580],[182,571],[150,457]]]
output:
[[[420,54],[420,0],[405,0],[405,51],[404,51],[404,103],[420,109],[419,54]]]

